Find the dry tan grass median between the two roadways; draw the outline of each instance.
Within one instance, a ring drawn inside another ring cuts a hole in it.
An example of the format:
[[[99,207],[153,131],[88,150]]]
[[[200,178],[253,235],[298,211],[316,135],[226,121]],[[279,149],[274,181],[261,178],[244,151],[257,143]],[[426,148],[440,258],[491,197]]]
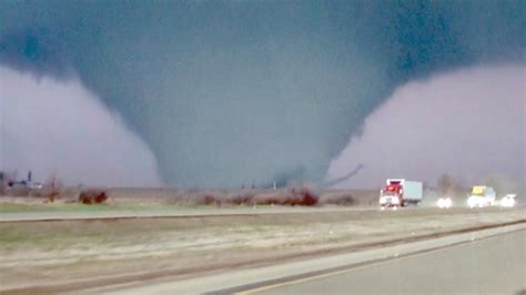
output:
[[[0,223],[0,291],[59,292],[202,275],[524,221],[524,208],[304,212]]]

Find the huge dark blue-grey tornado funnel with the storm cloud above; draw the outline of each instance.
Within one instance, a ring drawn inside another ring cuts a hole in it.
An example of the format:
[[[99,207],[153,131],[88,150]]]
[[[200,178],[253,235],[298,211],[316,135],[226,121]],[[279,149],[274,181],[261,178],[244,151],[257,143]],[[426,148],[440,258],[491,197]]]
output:
[[[525,19],[524,1],[2,1],[0,62],[77,72],[172,185],[321,181],[396,85],[524,62]]]

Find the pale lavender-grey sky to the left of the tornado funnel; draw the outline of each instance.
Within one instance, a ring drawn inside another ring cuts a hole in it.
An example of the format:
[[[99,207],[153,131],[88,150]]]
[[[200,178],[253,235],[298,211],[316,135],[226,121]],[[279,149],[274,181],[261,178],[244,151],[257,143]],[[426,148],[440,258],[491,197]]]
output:
[[[78,79],[4,67],[0,77],[1,170],[69,185],[163,185],[148,145]]]

